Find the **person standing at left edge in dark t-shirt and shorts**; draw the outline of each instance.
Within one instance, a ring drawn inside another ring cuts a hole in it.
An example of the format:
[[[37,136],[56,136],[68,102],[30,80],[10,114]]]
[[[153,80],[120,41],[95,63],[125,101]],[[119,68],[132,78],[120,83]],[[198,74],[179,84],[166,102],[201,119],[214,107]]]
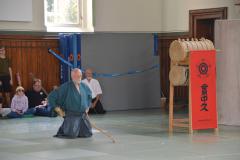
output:
[[[5,94],[8,106],[10,106],[10,92],[12,90],[12,85],[11,61],[6,57],[5,47],[0,46],[0,96],[3,96],[3,93]]]

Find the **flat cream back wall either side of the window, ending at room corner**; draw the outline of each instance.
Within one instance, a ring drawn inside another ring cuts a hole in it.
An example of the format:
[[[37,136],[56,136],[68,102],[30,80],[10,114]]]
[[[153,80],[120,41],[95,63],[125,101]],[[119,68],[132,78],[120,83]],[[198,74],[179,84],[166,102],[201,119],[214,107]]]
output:
[[[33,0],[32,22],[0,21],[0,30],[45,31],[43,2],[44,0]],[[160,31],[161,2],[162,0],[94,0],[95,31]]]

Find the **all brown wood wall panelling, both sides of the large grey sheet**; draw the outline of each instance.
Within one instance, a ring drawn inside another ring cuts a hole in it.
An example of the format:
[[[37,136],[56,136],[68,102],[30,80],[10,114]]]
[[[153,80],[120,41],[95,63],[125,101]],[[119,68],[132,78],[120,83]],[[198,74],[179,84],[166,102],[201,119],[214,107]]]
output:
[[[169,46],[178,38],[187,38],[184,35],[159,35],[158,50],[160,58],[160,80],[164,95],[169,97]],[[0,35],[0,46],[5,46],[6,55],[12,61],[14,88],[17,86],[16,73],[19,72],[22,85],[25,89],[32,87],[30,73],[33,73],[43,82],[49,92],[54,85],[60,84],[59,61],[48,53],[48,48],[58,53],[58,38],[49,36]],[[187,87],[176,87],[176,99],[187,99]]]

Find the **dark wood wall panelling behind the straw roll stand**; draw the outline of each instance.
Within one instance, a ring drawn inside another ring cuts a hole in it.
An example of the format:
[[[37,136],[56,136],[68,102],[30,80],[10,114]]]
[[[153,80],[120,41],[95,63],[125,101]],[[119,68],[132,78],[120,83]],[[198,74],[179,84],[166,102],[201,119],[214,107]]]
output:
[[[158,35],[158,51],[160,62],[160,81],[163,94],[169,97],[169,71],[170,71],[170,57],[169,47],[173,40],[178,38],[188,38],[188,34],[183,35]],[[175,87],[174,91],[175,100],[187,100],[188,88],[187,87]]]

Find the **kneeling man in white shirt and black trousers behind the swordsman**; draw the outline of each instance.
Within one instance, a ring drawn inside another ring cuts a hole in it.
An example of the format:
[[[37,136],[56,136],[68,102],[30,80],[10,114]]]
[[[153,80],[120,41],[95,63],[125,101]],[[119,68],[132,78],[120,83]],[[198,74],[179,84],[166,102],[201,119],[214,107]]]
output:
[[[83,83],[88,85],[92,91],[92,106],[89,109],[88,113],[105,114],[106,111],[104,110],[102,103],[100,101],[100,98],[102,95],[102,89],[98,80],[93,78],[92,73],[93,72],[91,69],[86,69],[85,79],[82,81]]]

